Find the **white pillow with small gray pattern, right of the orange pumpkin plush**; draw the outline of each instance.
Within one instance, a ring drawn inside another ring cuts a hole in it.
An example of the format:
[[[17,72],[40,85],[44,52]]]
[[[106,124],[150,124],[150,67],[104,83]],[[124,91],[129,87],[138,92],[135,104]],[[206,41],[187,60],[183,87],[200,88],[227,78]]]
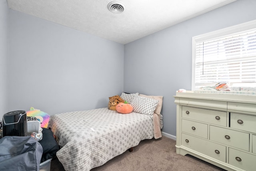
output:
[[[137,94],[134,96],[134,99],[131,103],[134,112],[147,115],[153,115],[157,104],[158,100],[148,97],[142,97]]]

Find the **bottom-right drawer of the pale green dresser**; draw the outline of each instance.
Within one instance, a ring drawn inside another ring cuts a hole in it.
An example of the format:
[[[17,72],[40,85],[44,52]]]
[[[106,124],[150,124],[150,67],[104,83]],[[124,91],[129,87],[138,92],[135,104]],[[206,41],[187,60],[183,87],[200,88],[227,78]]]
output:
[[[246,171],[255,171],[256,156],[229,148],[228,163]],[[239,157],[239,158],[237,158]]]

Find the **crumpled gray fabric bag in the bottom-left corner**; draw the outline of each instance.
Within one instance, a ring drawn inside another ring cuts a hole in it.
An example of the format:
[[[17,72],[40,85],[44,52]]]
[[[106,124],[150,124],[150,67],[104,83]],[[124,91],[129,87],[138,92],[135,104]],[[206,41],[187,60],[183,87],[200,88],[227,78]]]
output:
[[[39,171],[43,148],[26,136],[0,139],[0,171]]]

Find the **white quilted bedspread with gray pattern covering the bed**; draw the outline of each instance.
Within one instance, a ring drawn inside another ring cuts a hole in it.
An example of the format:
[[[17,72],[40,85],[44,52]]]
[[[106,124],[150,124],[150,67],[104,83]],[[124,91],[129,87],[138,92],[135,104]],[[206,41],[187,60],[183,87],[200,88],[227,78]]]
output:
[[[63,146],[57,157],[66,171],[89,171],[153,138],[152,117],[108,108],[52,115],[49,127]]]

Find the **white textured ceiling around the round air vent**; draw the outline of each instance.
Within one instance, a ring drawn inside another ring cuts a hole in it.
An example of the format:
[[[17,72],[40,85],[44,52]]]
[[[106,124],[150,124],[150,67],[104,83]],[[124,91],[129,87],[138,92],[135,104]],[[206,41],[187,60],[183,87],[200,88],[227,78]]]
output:
[[[7,0],[9,8],[101,38],[126,44],[236,0]]]

